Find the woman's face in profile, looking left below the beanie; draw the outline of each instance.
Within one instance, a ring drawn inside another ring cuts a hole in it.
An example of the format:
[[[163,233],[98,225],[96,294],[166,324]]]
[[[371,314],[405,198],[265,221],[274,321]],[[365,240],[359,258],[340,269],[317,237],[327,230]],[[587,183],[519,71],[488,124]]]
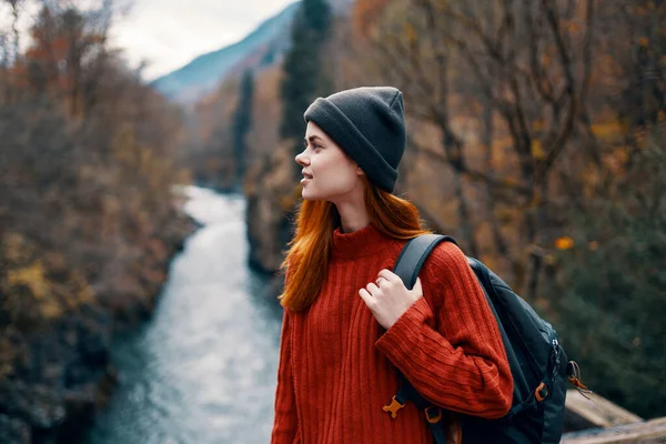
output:
[[[295,161],[303,167],[302,196],[337,203],[363,193],[363,170],[313,122],[305,130],[305,150]]]

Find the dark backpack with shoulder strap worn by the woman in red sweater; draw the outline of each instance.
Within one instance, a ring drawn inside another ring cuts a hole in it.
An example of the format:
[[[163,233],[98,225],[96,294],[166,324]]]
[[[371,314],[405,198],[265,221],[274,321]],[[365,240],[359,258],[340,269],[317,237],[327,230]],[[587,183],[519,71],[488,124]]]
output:
[[[407,289],[412,289],[421,266],[440,242],[453,242],[450,236],[425,234],[410,240],[403,248],[393,272]],[[541,319],[495,273],[481,261],[467,258],[502,334],[514,383],[509,412],[498,420],[460,415],[463,441],[466,443],[559,443],[564,427],[566,380],[585,395],[589,393],[579,381],[579,369],[567,363],[557,333]],[[565,364],[566,363],[566,364]],[[384,407],[395,417],[405,402],[413,402],[425,412],[436,444],[446,443],[445,424],[440,407],[416,392],[398,371],[402,385],[392,403]]]

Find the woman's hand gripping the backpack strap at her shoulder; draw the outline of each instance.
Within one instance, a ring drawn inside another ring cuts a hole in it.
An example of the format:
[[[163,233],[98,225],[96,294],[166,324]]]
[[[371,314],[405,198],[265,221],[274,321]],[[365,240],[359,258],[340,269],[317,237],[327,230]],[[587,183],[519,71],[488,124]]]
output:
[[[382,270],[375,282],[359,290],[380,325],[389,330],[414,302],[423,296],[421,279],[416,278],[414,289],[407,290],[403,281],[390,270]]]

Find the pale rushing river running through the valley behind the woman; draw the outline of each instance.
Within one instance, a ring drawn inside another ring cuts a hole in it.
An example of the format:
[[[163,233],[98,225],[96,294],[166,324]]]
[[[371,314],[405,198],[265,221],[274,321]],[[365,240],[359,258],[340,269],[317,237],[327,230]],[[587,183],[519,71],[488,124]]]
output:
[[[114,341],[119,385],[88,444],[269,442],[282,317],[246,265],[245,201],[185,192],[203,226],[173,259],[153,317]]]

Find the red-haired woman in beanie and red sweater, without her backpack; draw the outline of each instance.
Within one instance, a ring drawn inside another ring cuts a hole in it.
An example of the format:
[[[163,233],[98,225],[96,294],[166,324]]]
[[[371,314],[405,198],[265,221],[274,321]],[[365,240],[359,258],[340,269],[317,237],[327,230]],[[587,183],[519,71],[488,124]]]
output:
[[[303,201],[283,263],[284,320],[272,443],[432,443],[407,403],[383,410],[396,367],[428,401],[504,416],[513,382],[495,319],[464,254],[440,243],[408,291],[391,272],[405,242],[426,233],[392,194],[405,148],[402,93],[357,88],[319,98],[304,114]]]

